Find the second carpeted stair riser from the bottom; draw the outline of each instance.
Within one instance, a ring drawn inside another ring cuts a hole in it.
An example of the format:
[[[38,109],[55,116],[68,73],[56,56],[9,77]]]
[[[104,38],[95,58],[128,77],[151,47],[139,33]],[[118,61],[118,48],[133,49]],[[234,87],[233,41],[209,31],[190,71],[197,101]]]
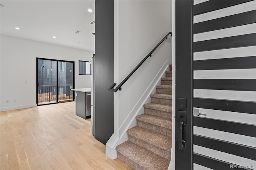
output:
[[[144,149],[147,149],[151,152],[153,152],[154,154],[157,154],[159,156],[162,156],[168,160],[171,160],[171,154],[170,154],[170,151],[167,151],[167,150],[164,150],[162,148],[159,148],[157,146],[154,146],[148,142],[145,142],[143,140],[140,140],[138,138],[135,138],[134,136],[131,136],[128,134],[128,141],[144,148]]]

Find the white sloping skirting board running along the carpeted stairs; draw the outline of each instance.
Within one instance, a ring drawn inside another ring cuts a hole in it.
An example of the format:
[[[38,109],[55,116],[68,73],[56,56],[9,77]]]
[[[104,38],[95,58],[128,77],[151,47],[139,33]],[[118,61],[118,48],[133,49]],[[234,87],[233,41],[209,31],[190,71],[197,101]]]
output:
[[[106,143],[106,156],[108,156],[111,159],[116,158],[116,146],[119,144],[125,142],[128,140],[126,130],[129,128],[135,127],[136,126],[136,119],[135,117],[137,115],[140,115],[143,113],[144,107],[143,105],[145,103],[150,103],[150,94],[156,93],[156,85],[161,84],[161,78],[164,77],[164,73],[166,70],[169,70],[169,64],[172,64],[172,61],[167,60],[160,71],[157,73],[157,75],[154,77],[142,97],[138,100],[132,111],[129,113],[128,117],[124,121],[124,123],[121,125],[119,128],[119,134],[120,137],[118,138],[114,134],[110,137],[108,142]]]

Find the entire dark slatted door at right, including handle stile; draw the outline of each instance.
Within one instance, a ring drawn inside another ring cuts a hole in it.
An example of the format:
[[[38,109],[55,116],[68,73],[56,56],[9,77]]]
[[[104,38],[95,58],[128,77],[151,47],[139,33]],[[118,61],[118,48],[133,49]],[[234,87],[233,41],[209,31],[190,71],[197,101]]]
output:
[[[255,0],[176,1],[175,121],[176,169],[256,170]]]

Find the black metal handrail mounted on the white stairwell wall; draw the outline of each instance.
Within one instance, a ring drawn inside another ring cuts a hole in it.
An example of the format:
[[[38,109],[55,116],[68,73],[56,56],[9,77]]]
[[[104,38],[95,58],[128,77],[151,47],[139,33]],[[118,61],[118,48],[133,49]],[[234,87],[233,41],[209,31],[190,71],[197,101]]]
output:
[[[144,63],[144,61],[146,61],[146,59],[148,59],[148,57],[152,56],[152,53],[157,49],[157,47],[164,41],[164,39],[167,39],[167,37],[171,34],[172,36],[172,32],[168,32],[168,34],[156,45],[156,47],[154,47],[152,49],[152,51],[150,51],[150,53],[148,53],[148,55],[135,67],[135,69],[132,70],[132,72],[130,72],[130,74],[125,77],[125,79],[116,87],[116,89],[113,89],[116,86],[116,83],[112,84],[109,88],[108,91],[113,91],[113,92],[117,92],[118,90],[122,89],[122,85],[132,76],[132,74]]]

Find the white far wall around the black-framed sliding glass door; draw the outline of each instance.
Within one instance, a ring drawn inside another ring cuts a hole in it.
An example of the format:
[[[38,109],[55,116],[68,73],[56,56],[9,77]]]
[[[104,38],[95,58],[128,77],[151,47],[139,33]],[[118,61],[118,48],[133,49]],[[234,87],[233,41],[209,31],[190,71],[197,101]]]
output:
[[[75,61],[75,88],[91,87],[90,75],[78,75],[78,60],[90,61],[92,51],[3,34],[0,45],[1,111],[36,106],[36,57]],[[6,99],[9,99],[9,103],[6,103]],[[17,101],[14,102],[14,99]]]

